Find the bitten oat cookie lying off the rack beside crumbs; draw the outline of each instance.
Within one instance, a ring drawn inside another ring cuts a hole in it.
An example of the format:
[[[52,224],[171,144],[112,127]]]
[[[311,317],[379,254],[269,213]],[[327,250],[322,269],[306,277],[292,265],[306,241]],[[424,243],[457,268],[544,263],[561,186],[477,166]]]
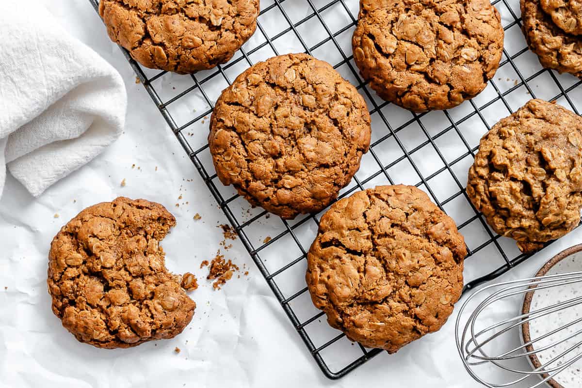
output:
[[[194,315],[158,245],[176,224],[158,203],[119,197],[88,207],[52,240],[52,311],[80,342],[114,349],[173,338]]]

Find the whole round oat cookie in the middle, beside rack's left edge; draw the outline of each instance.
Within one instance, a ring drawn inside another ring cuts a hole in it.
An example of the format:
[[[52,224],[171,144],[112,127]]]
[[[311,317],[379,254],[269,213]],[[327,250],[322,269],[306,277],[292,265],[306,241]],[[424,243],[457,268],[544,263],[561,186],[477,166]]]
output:
[[[210,120],[218,178],[283,218],[321,211],[360,167],[370,114],[356,88],[306,54],[250,67],[226,88]]]

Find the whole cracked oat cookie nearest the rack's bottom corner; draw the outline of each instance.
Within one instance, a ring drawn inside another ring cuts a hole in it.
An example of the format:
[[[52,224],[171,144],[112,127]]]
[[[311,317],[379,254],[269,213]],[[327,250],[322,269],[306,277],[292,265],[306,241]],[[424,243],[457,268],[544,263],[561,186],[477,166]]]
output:
[[[463,236],[414,186],[339,200],[307,255],[315,307],[350,340],[394,353],[446,322],[463,288]]]

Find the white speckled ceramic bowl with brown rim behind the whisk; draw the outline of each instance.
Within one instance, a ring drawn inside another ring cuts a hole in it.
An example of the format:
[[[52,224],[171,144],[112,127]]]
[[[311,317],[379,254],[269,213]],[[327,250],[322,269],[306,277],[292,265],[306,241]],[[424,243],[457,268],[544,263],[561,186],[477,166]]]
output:
[[[577,271],[582,271],[582,244],[563,250],[556,256],[552,257],[551,260],[549,260],[548,263],[546,263],[540,271],[535,274],[535,276]],[[573,296],[576,296],[576,294],[582,294],[581,283],[573,283],[571,285],[528,292],[523,301],[523,313],[527,314],[530,310],[537,310],[538,308],[543,308],[559,301],[571,299]],[[557,328],[560,324],[572,322],[579,317],[582,317],[582,305],[570,307],[556,314],[534,319],[534,321],[521,326],[521,340],[523,340],[523,343],[527,343],[531,340],[532,336],[534,338],[540,336],[549,332],[551,329]],[[580,330],[580,325],[570,326],[570,328],[565,330],[567,330],[568,334],[574,333],[577,330]],[[549,337],[548,340],[551,340],[551,337]],[[580,336],[577,336],[552,349],[532,354],[529,357],[530,363],[534,368],[539,368],[544,362],[548,361],[552,355],[560,354],[562,351],[581,340]],[[540,343],[536,343],[535,347],[538,347],[539,349],[545,344],[545,342],[541,341]],[[528,346],[526,349],[531,351],[535,349],[535,347]],[[582,349],[579,349],[579,351],[582,352]],[[580,371],[582,371],[582,360],[570,365],[570,367],[565,369],[565,371],[559,373],[555,379],[548,380],[546,386],[552,388],[582,387],[582,373]]]

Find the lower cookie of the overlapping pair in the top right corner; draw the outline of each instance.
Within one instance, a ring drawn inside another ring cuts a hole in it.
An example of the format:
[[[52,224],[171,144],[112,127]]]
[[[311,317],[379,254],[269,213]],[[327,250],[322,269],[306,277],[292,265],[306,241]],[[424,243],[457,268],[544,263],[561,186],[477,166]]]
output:
[[[546,69],[582,77],[582,39],[560,30],[541,8],[540,0],[521,0],[527,45]]]

